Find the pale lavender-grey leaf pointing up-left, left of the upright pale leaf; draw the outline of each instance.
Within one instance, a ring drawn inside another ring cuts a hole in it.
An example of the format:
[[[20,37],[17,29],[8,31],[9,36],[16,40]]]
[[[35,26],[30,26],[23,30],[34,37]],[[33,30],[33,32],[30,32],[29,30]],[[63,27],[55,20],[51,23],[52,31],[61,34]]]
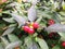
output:
[[[16,15],[14,13],[11,13],[11,15],[14,17],[14,20],[18,23],[18,27],[24,25],[26,23],[26,19],[20,15]]]

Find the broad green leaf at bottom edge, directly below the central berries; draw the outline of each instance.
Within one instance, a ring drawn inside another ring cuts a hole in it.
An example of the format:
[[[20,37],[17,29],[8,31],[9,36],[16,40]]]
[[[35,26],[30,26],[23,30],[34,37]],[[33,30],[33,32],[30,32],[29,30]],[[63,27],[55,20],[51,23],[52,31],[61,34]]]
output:
[[[38,45],[31,39],[31,37],[25,38],[25,45],[27,49],[39,49]]]

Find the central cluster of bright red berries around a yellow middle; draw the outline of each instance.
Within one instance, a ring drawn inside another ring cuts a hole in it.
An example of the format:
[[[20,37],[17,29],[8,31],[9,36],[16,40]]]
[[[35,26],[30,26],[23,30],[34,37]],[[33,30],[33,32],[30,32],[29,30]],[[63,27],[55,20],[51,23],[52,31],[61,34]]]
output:
[[[31,23],[30,26],[28,26],[28,25],[24,26],[23,29],[26,33],[32,35],[35,33],[35,29],[37,29],[38,27],[39,27],[39,24],[35,22],[35,23]]]

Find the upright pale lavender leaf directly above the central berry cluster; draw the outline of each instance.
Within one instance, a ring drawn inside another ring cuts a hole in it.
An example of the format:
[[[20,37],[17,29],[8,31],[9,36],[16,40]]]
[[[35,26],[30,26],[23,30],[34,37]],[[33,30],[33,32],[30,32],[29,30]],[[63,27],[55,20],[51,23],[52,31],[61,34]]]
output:
[[[34,22],[37,19],[37,11],[35,9],[35,5],[31,5],[31,8],[28,10],[28,20],[30,22]]]

